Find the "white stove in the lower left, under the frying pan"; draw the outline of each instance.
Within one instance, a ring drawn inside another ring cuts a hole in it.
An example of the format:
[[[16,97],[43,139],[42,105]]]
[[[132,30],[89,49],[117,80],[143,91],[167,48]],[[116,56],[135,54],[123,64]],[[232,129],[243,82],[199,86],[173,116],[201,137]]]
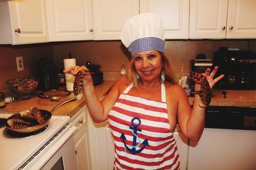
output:
[[[7,118],[10,114],[0,114],[1,118]],[[65,146],[66,143],[74,145],[73,134],[76,127],[70,123],[70,117],[52,116],[48,127],[34,136],[26,138],[6,138],[3,135],[4,128],[0,129],[0,165],[3,170],[10,169],[44,169],[52,157]],[[67,147],[66,147],[67,148]],[[70,146],[68,146],[70,148]],[[72,146],[72,148],[74,148]],[[76,162],[75,150],[68,153],[71,160]],[[74,152],[74,153],[73,153]],[[60,155],[57,160],[62,162],[65,157]],[[68,158],[70,159],[70,158]],[[56,160],[56,162],[57,162]],[[68,160],[70,161],[70,160]],[[52,166],[56,164],[52,163]],[[49,165],[47,165],[49,167]],[[67,165],[62,165],[63,169]],[[76,169],[76,165],[74,165]]]

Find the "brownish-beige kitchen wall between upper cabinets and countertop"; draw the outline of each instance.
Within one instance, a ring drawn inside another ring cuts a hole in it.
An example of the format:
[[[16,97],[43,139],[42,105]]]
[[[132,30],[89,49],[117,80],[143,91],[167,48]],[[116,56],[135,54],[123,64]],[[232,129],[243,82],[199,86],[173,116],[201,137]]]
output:
[[[208,59],[220,46],[248,50],[248,40],[177,40],[166,41],[166,53],[170,56],[174,71],[188,72],[189,62],[198,53],[205,53]],[[122,63],[129,62],[129,53],[120,41],[76,41],[43,43],[35,45],[0,45],[0,89],[6,87],[6,80],[20,76],[36,76],[36,61],[49,57],[63,68],[63,59],[72,52],[77,65],[100,64],[102,71],[119,71]],[[24,71],[17,71],[17,56],[24,57]]]

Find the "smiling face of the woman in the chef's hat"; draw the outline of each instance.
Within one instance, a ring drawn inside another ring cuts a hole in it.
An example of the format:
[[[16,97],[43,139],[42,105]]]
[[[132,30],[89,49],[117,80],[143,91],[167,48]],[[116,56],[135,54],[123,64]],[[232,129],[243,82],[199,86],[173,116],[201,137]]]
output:
[[[148,83],[159,80],[162,69],[161,54],[157,51],[144,51],[134,56],[134,67],[142,81]]]

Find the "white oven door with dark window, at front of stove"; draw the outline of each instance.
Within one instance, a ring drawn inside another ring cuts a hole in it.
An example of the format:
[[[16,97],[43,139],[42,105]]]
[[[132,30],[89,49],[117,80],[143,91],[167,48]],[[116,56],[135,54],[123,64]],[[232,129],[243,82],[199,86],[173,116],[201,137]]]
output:
[[[73,135],[76,130],[72,124],[65,125],[20,169],[78,169]]]

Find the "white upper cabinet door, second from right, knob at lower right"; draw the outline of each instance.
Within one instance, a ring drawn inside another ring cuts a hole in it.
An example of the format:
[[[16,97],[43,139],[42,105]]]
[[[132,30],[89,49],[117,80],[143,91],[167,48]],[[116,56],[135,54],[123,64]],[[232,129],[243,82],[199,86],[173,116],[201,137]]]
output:
[[[228,0],[190,0],[189,38],[223,39]]]

